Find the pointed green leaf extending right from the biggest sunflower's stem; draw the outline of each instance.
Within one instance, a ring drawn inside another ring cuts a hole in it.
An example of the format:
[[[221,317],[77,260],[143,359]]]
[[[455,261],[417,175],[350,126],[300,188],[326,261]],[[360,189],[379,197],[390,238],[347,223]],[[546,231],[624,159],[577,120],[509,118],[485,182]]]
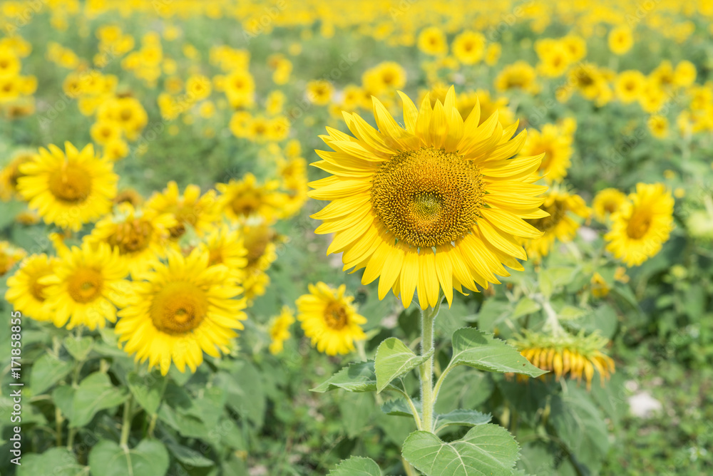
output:
[[[518,350],[504,341],[475,328],[462,328],[453,333],[451,366],[466,365],[487,372],[524,373],[541,376],[545,371],[533,366]]]

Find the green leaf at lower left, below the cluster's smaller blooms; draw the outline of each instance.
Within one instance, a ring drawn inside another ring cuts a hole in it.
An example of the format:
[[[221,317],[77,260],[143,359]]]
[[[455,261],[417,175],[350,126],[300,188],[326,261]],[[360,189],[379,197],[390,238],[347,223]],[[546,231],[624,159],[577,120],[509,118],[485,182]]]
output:
[[[77,428],[86,425],[99,410],[123,403],[126,395],[126,389],[113,386],[106,373],[92,373],[81,381],[74,393],[70,426]]]

